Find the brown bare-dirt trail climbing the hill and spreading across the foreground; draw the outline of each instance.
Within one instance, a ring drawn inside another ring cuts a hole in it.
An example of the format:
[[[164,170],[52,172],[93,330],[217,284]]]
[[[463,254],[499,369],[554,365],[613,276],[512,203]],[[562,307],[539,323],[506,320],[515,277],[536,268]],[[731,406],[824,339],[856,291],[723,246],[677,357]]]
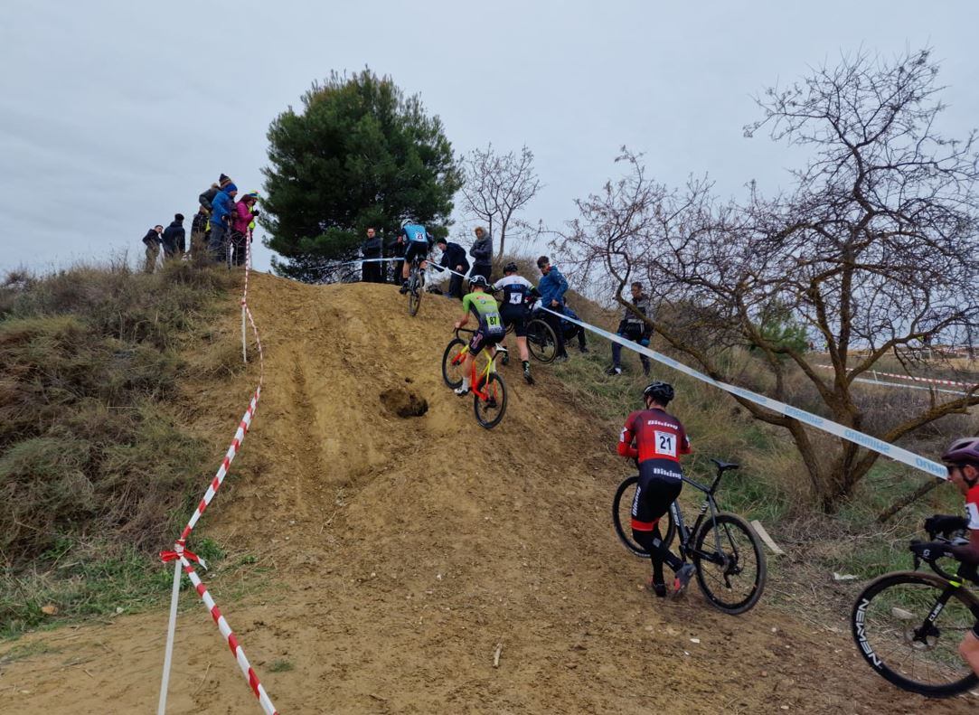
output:
[[[443,386],[457,304],[426,298],[411,319],[392,286],[264,275],[252,295],[265,388],[237,478],[202,523],[274,568],[241,600],[220,569],[205,579],[281,712],[974,711],[891,688],[846,634],[765,598],[730,617],[696,589],[677,603],[642,591],[647,566],[608,515],[628,467],[546,369],[530,388],[519,361],[503,368],[511,402],[492,431]],[[215,455],[252,379],[201,391],[226,417]],[[380,397],[395,389],[427,412],[396,416]],[[168,711],[259,712],[191,596]],[[164,624],[161,610],[24,637],[35,654],[0,666],[3,709],[153,711]]]

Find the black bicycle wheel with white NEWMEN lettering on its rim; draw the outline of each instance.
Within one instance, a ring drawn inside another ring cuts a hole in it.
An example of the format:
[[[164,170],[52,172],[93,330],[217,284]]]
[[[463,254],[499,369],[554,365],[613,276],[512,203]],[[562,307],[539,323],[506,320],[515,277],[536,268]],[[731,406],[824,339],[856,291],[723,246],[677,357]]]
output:
[[[867,586],[850,625],[863,659],[878,674],[906,691],[948,697],[979,684],[958,654],[977,618],[979,599],[968,591],[938,576],[904,571]]]

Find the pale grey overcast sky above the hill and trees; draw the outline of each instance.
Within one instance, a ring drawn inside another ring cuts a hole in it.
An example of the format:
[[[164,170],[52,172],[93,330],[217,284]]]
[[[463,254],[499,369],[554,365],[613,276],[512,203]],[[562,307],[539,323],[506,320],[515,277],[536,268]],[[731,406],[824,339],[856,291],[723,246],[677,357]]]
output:
[[[798,157],[743,137],[752,96],[841,52],[931,45],[942,130],[979,124],[975,3],[667,5],[4,0],[0,270],[135,256],[174,213],[189,229],[221,171],[260,190],[269,122],[331,70],[390,74],[458,153],[527,144],[545,188],[525,217],[550,226],[617,175],[623,144],[667,183],[783,185]]]

